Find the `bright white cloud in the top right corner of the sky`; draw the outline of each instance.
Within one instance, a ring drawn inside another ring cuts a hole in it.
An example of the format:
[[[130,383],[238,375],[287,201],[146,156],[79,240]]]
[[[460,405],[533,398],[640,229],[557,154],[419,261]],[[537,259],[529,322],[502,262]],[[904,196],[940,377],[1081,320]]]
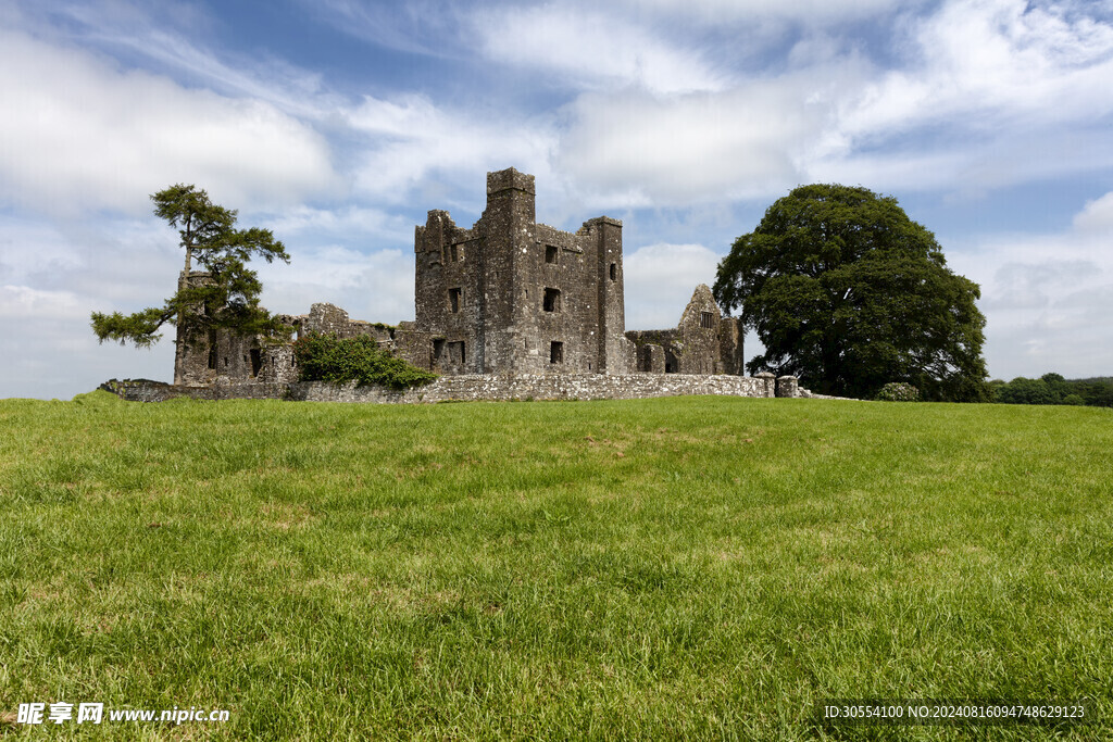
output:
[[[1113,26],[1024,0],[951,0],[914,26],[917,58],[848,101],[848,135],[877,137],[938,121],[1030,130],[1113,111]]]

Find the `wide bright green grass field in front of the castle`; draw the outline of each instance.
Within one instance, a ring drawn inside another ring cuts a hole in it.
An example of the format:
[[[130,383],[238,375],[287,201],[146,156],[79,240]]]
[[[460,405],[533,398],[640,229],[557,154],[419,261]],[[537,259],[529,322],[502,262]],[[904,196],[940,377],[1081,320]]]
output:
[[[1078,407],[0,402],[0,733],[1109,739],[1111,472]],[[817,728],[835,698],[1109,722]]]

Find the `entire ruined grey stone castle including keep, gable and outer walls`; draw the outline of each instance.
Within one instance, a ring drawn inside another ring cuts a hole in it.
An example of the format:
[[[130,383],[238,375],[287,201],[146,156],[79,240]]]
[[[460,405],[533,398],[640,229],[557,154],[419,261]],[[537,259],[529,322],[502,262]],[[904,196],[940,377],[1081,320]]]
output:
[[[296,336],[375,338],[414,366],[442,375],[430,387],[434,399],[436,385],[452,389],[445,398],[509,398],[515,392],[532,397],[538,385],[541,398],[658,396],[686,387],[698,394],[774,396],[777,387],[782,393],[777,396],[800,394],[795,379],[742,377],[742,328],[720,314],[706,285],[696,287],[677,327],[627,332],[622,222],[597,217],[574,233],[538,224],[533,184],[532,175],[513,168],[489,172],[486,208],[470,229],[456,226],[447,211],[429,212],[414,234],[413,321],[353,320],[331,304],[280,319]],[[184,271],[179,280],[206,277]],[[194,337],[180,328],[176,343],[174,388],[194,389],[191,396],[219,387],[224,396],[288,397],[286,387],[296,386],[289,343],[229,332]],[[670,375],[677,384],[652,380]],[[494,378],[516,380],[499,390]],[[273,394],[272,387],[286,392]]]

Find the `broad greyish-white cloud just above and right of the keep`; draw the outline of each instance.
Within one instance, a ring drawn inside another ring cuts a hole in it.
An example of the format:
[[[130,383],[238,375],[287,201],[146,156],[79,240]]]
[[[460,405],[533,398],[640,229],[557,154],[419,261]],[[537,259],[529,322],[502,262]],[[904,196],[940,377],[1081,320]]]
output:
[[[667,99],[587,93],[569,108],[556,164],[624,206],[779,195],[821,135],[824,88],[782,77]]]

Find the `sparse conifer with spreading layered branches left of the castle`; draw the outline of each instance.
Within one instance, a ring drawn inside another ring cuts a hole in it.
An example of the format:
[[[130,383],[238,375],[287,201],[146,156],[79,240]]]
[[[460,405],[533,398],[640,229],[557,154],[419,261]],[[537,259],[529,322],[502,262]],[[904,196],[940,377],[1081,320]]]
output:
[[[286,336],[286,326],[259,306],[263,284],[247,267],[253,256],[267,263],[276,258],[289,263],[286,248],[270,230],[237,229],[236,210],[213,204],[207,192],[191,185],[178,184],[150,198],[155,215],[178,228],[186,251],[186,279],[161,307],[131,315],[93,311],[97,338],[149,347],[161,337],[159,329],[167,323],[185,329],[187,337],[207,337],[215,329]]]

